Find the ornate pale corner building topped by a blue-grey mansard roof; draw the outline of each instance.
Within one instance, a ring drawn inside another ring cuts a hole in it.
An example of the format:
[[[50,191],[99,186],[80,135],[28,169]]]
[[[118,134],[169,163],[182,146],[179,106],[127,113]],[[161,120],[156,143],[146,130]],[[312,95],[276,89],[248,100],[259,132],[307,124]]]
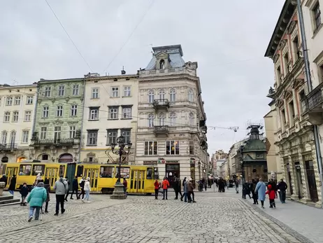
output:
[[[182,48],[152,48],[139,73],[136,162],[158,165],[161,178],[206,176],[206,114],[197,62],[185,62]]]

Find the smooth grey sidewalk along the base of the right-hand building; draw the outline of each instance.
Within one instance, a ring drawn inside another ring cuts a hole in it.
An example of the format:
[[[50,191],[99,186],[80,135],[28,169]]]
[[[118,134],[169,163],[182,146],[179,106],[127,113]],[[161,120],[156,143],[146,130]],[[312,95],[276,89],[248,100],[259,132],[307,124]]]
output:
[[[253,200],[247,199],[247,202],[252,204]],[[252,205],[252,207],[259,208],[312,242],[323,242],[323,209],[317,209],[290,200],[287,200],[285,204],[280,203],[279,199],[276,199],[275,202],[276,209],[268,208],[268,198],[266,198],[265,209],[261,209],[259,205]],[[275,223],[280,224],[279,222]],[[281,226],[283,227],[283,225]]]

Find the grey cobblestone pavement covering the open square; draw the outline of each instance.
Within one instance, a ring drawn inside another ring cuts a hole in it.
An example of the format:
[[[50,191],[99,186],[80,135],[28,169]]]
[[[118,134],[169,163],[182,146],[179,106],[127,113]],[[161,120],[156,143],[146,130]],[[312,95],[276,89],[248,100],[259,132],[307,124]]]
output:
[[[27,222],[26,207],[3,207],[0,242],[299,242],[239,194],[211,190],[195,195],[194,204],[173,200],[173,193],[168,200],[129,196],[119,201],[93,195],[92,203],[74,200],[64,215],[50,214],[37,223]]]

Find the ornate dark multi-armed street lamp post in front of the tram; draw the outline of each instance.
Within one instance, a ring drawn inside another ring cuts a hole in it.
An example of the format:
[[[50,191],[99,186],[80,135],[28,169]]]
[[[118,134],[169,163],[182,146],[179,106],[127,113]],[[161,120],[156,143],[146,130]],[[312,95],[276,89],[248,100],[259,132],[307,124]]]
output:
[[[119,149],[115,150],[115,146]],[[127,195],[124,193],[124,186],[121,183],[121,160],[122,155],[127,155],[130,153],[131,143],[124,144],[124,137],[120,136],[117,138],[117,144],[111,144],[111,151],[116,155],[119,155],[119,174],[117,175],[117,182],[115,183],[115,189],[113,190],[113,195],[110,196],[111,199],[126,199]]]

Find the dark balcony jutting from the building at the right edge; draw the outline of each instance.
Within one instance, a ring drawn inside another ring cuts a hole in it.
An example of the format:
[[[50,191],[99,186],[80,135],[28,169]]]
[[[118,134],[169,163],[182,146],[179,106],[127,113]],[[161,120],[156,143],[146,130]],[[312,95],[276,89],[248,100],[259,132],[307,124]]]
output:
[[[313,125],[323,124],[323,83],[320,83],[312,92],[301,99],[303,113],[308,114],[308,121]]]

